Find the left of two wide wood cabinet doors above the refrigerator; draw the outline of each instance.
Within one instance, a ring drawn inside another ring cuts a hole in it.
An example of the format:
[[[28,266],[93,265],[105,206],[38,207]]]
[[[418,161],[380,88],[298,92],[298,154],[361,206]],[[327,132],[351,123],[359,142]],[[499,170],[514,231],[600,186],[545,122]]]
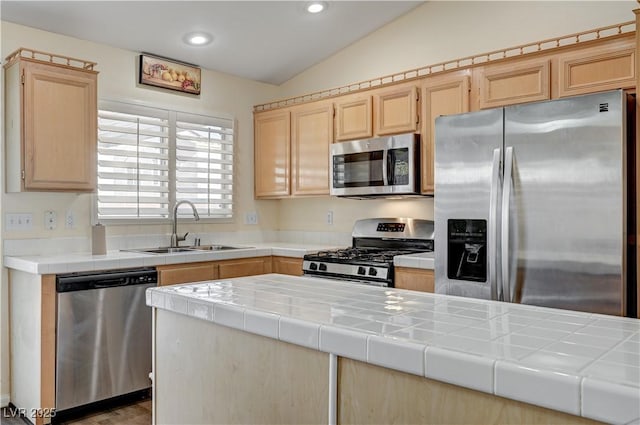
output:
[[[480,109],[551,99],[550,60],[479,68]]]

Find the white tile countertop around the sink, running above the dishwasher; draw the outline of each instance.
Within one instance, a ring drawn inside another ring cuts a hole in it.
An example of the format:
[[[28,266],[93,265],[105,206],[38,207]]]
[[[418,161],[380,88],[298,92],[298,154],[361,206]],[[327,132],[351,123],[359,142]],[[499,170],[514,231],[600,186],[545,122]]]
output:
[[[153,267],[163,264],[230,260],[234,258],[262,257],[268,255],[302,258],[307,253],[334,248],[325,245],[284,242],[247,243],[236,246],[246,246],[246,248],[171,254],[109,251],[105,255],[67,253],[58,255],[4,256],[4,266],[33,274],[59,274],[129,267]]]

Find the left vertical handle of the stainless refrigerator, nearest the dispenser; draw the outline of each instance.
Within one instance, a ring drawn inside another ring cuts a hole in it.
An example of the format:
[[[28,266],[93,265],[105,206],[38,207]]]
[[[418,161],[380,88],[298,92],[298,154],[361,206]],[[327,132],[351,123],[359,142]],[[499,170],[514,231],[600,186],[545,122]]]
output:
[[[498,263],[496,249],[498,243],[498,200],[500,199],[500,157],[502,150],[493,150],[493,164],[491,166],[491,192],[489,195],[489,229],[487,258],[489,259],[489,284],[491,285],[491,299],[502,300],[502,288],[498,286]]]

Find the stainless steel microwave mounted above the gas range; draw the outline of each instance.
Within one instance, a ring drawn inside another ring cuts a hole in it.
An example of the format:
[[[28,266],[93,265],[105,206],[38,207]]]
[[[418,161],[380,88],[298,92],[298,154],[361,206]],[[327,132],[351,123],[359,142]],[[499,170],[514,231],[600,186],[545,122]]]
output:
[[[330,193],[369,198],[420,194],[420,140],[414,133],[331,145]]]

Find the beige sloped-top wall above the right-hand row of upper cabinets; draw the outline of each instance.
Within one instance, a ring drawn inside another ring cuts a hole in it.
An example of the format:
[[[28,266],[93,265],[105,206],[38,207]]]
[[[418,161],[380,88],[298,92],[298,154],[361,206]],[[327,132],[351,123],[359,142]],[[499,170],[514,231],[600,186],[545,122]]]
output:
[[[624,1],[429,1],[284,83],[280,98],[631,21]]]

